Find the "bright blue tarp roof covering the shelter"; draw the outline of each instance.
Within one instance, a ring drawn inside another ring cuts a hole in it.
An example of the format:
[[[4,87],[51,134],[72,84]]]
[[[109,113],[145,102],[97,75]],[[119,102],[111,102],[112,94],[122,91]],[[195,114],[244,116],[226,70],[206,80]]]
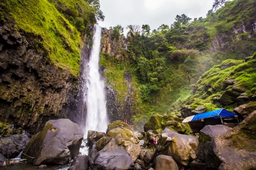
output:
[[[214,110],[214,111],[206,112],[202,114],[196,114],[191,121],[200,120],[208,117],[216,117],[216,116],[219,117],[219,115],[221,115],[221,117],[237,117],[237,115],[232,112],[229,112],[225,109],[219,109],[219,110]]]

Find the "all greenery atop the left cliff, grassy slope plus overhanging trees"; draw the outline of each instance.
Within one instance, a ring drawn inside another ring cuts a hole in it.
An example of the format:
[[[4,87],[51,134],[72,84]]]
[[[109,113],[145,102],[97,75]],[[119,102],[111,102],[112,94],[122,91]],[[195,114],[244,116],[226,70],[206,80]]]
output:
[[[96,16],[104,19],[96,6],[85,0],[3,0],[0,23],[14,20],[17,29],[33,34],[38,52],[46,50],[50,61],[78,76],[80,34],[90,33]]]

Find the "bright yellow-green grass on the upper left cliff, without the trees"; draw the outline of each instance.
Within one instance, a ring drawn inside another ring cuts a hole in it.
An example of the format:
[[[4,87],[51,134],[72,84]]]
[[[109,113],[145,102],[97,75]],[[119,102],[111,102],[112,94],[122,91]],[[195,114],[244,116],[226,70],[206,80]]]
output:
[[[71,74],[76,77],[80,71],[80,32],[57,8],[66,8],[75,17],[79,16],[78,5],[82,11],[90,8],[82,0],[58,0],[57,3],[53,0],[5,0],[1,3],[5,12],[8,11],[15,20],[17,28],[42,38],[37,43],[42,44],[43,49],[48,52],[50,61],[58,67],[70,69]]]

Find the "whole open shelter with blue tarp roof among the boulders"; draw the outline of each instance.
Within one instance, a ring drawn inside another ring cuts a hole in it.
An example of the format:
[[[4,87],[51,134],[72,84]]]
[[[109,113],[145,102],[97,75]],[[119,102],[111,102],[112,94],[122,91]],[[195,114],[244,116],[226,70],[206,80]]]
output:
[[[231,128],[238,125],[238,116],[225,109],[214,110],[202,114],[196,114],[185,118],[182,123],[188,123],[191,131],[199,132],[206,125],[224,124]]]

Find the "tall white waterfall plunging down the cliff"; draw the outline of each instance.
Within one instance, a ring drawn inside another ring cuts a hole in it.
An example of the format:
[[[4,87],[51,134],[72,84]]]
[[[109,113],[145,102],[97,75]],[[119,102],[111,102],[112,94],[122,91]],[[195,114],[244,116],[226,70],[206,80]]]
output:
[[[93,48],[89,60],[89,73],[87,73],[87,116],[84,129],[85,138],[89,130],[106,132],[108,117],[106,111],[105,84],[99,73],[99,52],[101,47],[101,27],[94,26]]]

